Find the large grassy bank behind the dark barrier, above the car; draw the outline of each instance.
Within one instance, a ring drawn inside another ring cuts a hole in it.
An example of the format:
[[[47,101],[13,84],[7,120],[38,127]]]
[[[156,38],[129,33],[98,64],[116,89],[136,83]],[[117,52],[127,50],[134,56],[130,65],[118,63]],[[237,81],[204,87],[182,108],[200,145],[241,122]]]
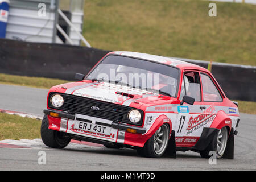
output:
[[[256,65],[256,6],[199,0],[86,0],[84,36],[96,48]]]

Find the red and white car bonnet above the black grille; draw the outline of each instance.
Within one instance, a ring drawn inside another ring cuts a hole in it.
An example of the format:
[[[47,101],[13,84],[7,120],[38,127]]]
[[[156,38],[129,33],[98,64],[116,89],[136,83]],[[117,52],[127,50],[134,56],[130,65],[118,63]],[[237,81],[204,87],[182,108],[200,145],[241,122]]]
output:
[[[65,90],[63,90],[63,88],[65,88]],[[60,85],[55,92],[72,94],[74,96],[92,98],[125,106],[129,106],[132,102],[137,102],[138,108],[142,104],[160,100],[156,93],[107,82],[64,84]]]

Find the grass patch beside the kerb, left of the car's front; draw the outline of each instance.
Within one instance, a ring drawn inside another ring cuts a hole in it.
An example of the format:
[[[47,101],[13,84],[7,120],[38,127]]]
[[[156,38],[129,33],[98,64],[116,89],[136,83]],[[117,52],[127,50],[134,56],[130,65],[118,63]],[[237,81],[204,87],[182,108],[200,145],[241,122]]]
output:
[[[41,138],[41,122],[37,119],[0,113],[0,140]]]

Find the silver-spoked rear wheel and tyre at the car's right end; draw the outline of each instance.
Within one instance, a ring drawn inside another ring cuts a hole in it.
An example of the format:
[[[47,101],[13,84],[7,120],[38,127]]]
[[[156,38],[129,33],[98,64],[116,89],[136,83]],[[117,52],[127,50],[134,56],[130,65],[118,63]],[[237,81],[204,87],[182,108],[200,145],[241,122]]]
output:
[[[210,158],[209,152],[216,152],[216,158],[220,159],[226,150],[226,145],[228,143],[228,129],[226,127],[222,127],[217,134],[217,137],[210,142],[209,146],[205,148],[205,150],[200,151],[200,155],[202,158]]]

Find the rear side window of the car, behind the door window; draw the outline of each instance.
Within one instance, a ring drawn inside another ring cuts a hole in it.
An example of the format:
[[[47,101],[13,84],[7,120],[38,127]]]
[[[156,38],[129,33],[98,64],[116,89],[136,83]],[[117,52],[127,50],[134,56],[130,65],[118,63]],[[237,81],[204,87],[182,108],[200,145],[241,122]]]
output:
[[[222,101],[222,97],[218,92],[216,85],[208,75],[201,73],[203,100],[204,101]]]

